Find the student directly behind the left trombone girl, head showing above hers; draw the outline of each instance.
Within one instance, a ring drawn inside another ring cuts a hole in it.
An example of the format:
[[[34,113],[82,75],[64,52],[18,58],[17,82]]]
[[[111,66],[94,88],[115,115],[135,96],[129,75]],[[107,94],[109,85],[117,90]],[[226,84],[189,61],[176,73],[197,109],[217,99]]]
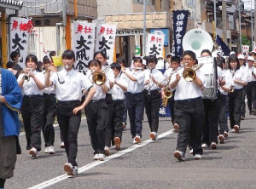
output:
[[[106,69],[106,67],[108,66],[107,63],[107,56],[106,54],[103,54],[101,51],[97,51],[94,54],[94,59],[95,60],[100,60],[101,61],[101,65],[102,65],[102,70]],[[90,72],[89,72],[90,74]],[[113,129],[113,125],[111,124],[112,122],[112,117],[113,117],[113,99],[112,99],[112,93],[113,93],[113,82],[114,82],[114,76],[113,76],[113,70],[108,70],[108,72],[106,73],[106,76],[108,77],[108,81],[109,81],[109,91],[108,94],[106,94],[106,103],[108,106],[108,112],[107,112],[107,128],[106,128],[106,136],[105,136],[105,155],[108,156],[110,154],[109,151],[109,147],[111,146],[111,142],[112,142],[112,129]]]

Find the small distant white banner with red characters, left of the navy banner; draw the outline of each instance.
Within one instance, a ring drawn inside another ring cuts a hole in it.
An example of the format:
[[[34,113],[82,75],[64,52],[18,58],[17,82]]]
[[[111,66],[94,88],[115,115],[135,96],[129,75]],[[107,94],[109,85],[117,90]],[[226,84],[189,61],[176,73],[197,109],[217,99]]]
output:
[[[148,34],[147,55],[156,55],[156,58],[163,56],[165,35]]]

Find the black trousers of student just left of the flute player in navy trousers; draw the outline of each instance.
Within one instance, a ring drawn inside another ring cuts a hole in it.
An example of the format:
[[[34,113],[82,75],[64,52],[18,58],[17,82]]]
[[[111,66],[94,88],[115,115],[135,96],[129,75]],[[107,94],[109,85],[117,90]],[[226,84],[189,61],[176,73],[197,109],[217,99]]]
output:
[[[123,115],[124,115],[124,100],[113,100],[113,117],[112,117],[112,139],[114,140],[115,137],[119,137],[122,139],[122,122],[123,122]]]

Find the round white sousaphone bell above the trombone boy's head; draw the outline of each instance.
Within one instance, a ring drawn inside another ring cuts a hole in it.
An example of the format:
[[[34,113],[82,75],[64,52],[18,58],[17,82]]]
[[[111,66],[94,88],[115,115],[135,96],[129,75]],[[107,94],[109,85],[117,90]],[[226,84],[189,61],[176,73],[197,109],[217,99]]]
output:
[[[189,30],[183,37],[183,50],[192,50],[196,57],[201,57],[201,51],[208,49],[212,52],[212,37],[207,31],[201,28]]]

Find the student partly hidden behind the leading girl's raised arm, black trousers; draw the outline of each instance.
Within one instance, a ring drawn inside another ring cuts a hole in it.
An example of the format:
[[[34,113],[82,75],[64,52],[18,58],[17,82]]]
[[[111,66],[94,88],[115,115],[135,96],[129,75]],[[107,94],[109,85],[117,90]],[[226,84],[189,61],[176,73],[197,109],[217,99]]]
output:
[[[49,56],[44,56],[44,74],[48,72],[48,67],[53,66],[52,60],[49,60]],[[45,142],[44,153],[54,154],[54,143],[55,143],[55,129],[53,123],[55,122],[56,116],[56,98],[55,98],[55,86],[52,85],[49,88],[45,88],[44,92],[44,126],[43,126],[43,135]]]

